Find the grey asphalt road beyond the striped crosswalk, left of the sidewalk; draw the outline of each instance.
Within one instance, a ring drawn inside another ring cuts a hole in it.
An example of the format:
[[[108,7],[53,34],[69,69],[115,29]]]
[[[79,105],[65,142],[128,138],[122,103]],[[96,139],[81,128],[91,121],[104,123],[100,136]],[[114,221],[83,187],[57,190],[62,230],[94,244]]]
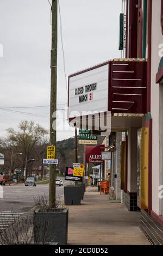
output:
[[[67,182],[64,182],[66,185]],[[64,194],[64,186],[57,186],[57,199]],[[48,185],[24,186],[24,184],[3,186],[3,199],[0,199],[0,211],[27,212],[34,206],[34,198],[48,197]]]

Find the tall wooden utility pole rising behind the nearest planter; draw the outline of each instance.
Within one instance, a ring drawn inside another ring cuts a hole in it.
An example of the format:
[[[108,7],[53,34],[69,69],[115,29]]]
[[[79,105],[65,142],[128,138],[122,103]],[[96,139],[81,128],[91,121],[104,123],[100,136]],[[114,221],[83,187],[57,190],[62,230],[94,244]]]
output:
[[[52,50],[51,50],[51,115],[50,115],[50,143],[56,147],[56,120],[53,123],[53,113],[57,111],[57,25],[58,0],[52,0]],[[53,127],[52,127],[53,125]],[[49,206],[55,208],[55,164],[50,164],[49,175]]]

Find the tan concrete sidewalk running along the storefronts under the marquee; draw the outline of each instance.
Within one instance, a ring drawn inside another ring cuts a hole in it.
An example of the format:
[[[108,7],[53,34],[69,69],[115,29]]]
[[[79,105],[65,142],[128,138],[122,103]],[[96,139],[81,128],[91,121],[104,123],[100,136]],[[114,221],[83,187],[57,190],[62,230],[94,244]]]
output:
[[[140,212],[87,187],[82,204],[69,207],[68,245],[151,245],[139,224]]]

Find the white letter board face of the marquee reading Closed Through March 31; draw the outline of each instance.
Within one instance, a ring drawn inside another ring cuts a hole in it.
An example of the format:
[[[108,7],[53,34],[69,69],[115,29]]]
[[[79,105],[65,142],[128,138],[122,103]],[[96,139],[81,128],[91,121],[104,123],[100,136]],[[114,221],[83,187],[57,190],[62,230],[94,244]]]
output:
[[[73,118],[84,112],[108,111],[109,64],[69,76],[69,113]]]

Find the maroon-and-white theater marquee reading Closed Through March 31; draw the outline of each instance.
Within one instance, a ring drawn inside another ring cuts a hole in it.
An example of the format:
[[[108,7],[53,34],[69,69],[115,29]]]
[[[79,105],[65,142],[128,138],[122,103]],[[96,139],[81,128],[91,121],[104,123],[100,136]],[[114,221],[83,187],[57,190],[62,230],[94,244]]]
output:
[[[72,127],[109,132],[113,115],[146,114],[146,102],[146,59],[113,59],[68,77]]]

